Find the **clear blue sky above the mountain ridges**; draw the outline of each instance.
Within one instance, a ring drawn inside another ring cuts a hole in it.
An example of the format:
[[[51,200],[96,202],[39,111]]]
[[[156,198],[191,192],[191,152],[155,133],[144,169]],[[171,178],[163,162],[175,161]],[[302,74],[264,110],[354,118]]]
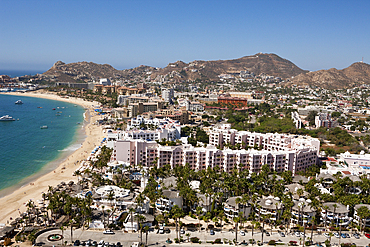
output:
[[[0,0],[0,70],[116,69],[275,53],[302,69],[370,62],[370,1]]]

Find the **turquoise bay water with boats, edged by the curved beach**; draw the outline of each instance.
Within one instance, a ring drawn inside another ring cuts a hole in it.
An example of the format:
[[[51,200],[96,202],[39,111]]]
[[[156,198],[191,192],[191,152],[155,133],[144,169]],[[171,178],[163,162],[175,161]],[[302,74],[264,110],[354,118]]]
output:
[[[54,170],[81,146],[84,112],[66,102],[0,95],[0,116],[16,119],[0,121],[0,197]]]

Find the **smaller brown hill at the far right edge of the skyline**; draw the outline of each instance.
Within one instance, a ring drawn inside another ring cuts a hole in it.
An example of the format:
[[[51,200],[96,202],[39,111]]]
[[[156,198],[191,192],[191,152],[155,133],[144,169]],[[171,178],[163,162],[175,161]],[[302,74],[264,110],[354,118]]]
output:
[[[370,65],[357,62],[348,68],[337,70],[318,70],[302,73],[288,82],[286,85],[318,86],[326,89],[343,89],[370,84]]]

